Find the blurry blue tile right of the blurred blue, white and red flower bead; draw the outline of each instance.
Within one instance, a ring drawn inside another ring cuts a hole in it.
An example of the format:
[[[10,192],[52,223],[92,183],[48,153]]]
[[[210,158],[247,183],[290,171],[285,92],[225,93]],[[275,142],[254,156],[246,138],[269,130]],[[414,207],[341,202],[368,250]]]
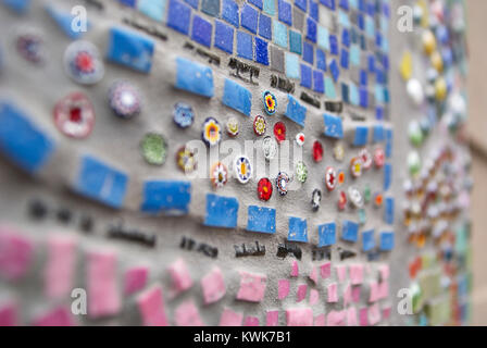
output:
[[[107,58],[141,73],[149,73],[152,67],[154,41],[125,28],[110,28]]]

